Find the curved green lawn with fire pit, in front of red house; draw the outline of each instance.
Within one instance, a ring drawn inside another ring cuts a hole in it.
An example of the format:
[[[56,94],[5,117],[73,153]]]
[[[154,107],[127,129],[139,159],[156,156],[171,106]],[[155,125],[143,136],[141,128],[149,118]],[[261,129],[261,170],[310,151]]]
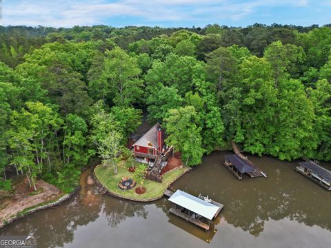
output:
[[[117,187],[117,184],[123,176],[132,178],[133,173],[129,172],[125,165],[119,165],[117,168],[117,175],[114,174],[114,169],[112,166],[98,165],[94,169],[95,176],[97,176],[99,182],[104,185],[111,193],[118,194],[124,197],[134,198],[137,200],[148,200],[163,196],[165,189],[169,187],[171,183],[179,176],[181,173],[185,172],[188,168],[183,167],[181,169],[176,169],[173,172],[169,172],[163,175],[163,182],[157,183],[152,180],[144,180],[143,187],[146,188],[145,194],[136,194],[135,188],[129,190],[121,190]],[[139,187],[137,185],[136,187]]]

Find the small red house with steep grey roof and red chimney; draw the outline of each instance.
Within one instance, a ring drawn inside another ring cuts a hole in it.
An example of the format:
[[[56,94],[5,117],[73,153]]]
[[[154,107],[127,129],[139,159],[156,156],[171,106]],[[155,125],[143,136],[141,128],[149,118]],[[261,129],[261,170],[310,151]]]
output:
[[[157,154],[164,152],[163,145],[163,130],[157,123],[132,146],[135,156],[155,159]]]

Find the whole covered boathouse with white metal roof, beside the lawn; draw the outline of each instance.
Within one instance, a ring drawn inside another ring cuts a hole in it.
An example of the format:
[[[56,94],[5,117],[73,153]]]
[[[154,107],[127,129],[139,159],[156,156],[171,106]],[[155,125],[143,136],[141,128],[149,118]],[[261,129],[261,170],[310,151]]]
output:
[[[170,213],[202,227],[205,231],[210,229],[210,220],[216,218],[223,207],[220,203],[215,205],[212,200],[203,200],[179,189],[168,200],[171,202]]]

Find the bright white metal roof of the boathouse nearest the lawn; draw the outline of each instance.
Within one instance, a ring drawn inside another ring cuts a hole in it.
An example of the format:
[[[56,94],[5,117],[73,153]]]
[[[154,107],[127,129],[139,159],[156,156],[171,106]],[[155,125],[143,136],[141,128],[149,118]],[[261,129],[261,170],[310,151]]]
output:
[[[219,207],[208,203],[205,200],[202,200],[196,196],[192,196],[188,193],[182,192],[181,190],[177,190],[174,194],[169,198],[172,203],[175,203],[185,209],[189,209],[196,214],[199,214],[209,220],[214,218],[215,214],[219,210]]]

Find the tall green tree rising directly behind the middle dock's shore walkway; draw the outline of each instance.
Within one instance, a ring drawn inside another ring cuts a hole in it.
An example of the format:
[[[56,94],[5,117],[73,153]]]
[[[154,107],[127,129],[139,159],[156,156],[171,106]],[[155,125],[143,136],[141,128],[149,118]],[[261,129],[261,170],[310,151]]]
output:
[[[252,154],[268,153],[277,132],[277,89],[274,89],[272,73],[270,63],[256,56],[245,59],[239,68],[241,94],[237,101],[241,102],[241,114],[235,118],[241,119],[241,128],[234,140],[243,142],[243,149]]]

